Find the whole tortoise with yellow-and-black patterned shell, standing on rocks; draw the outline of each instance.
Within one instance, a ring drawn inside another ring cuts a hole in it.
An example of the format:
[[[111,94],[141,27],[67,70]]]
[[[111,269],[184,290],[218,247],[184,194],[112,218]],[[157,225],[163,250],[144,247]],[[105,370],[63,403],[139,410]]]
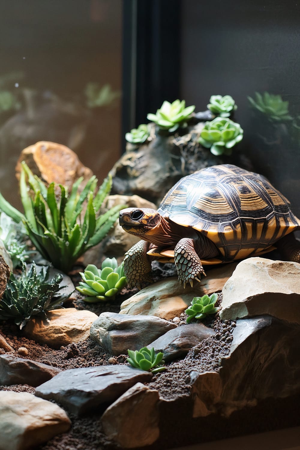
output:
[[[124,271],[131,287],[152,281],[151,261],[174,261],[178,279],[193,287],[219,264],[272,250],[300,262],[293,231],[300,220],[290,202],[262,175],[231,164],[206,167],[179,180],[158,210],[125,208],[119,223],[143,239],[126,253]]]

